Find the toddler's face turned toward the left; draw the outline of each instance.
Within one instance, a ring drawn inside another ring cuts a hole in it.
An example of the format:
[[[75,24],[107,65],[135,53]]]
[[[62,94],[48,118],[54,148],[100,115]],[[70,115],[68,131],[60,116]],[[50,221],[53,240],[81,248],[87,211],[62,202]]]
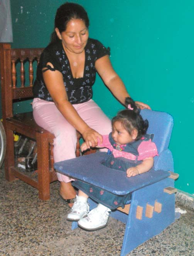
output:
[[[120,121],[113,123],[112,138],[119,146],[133,142],[134,140]]]

